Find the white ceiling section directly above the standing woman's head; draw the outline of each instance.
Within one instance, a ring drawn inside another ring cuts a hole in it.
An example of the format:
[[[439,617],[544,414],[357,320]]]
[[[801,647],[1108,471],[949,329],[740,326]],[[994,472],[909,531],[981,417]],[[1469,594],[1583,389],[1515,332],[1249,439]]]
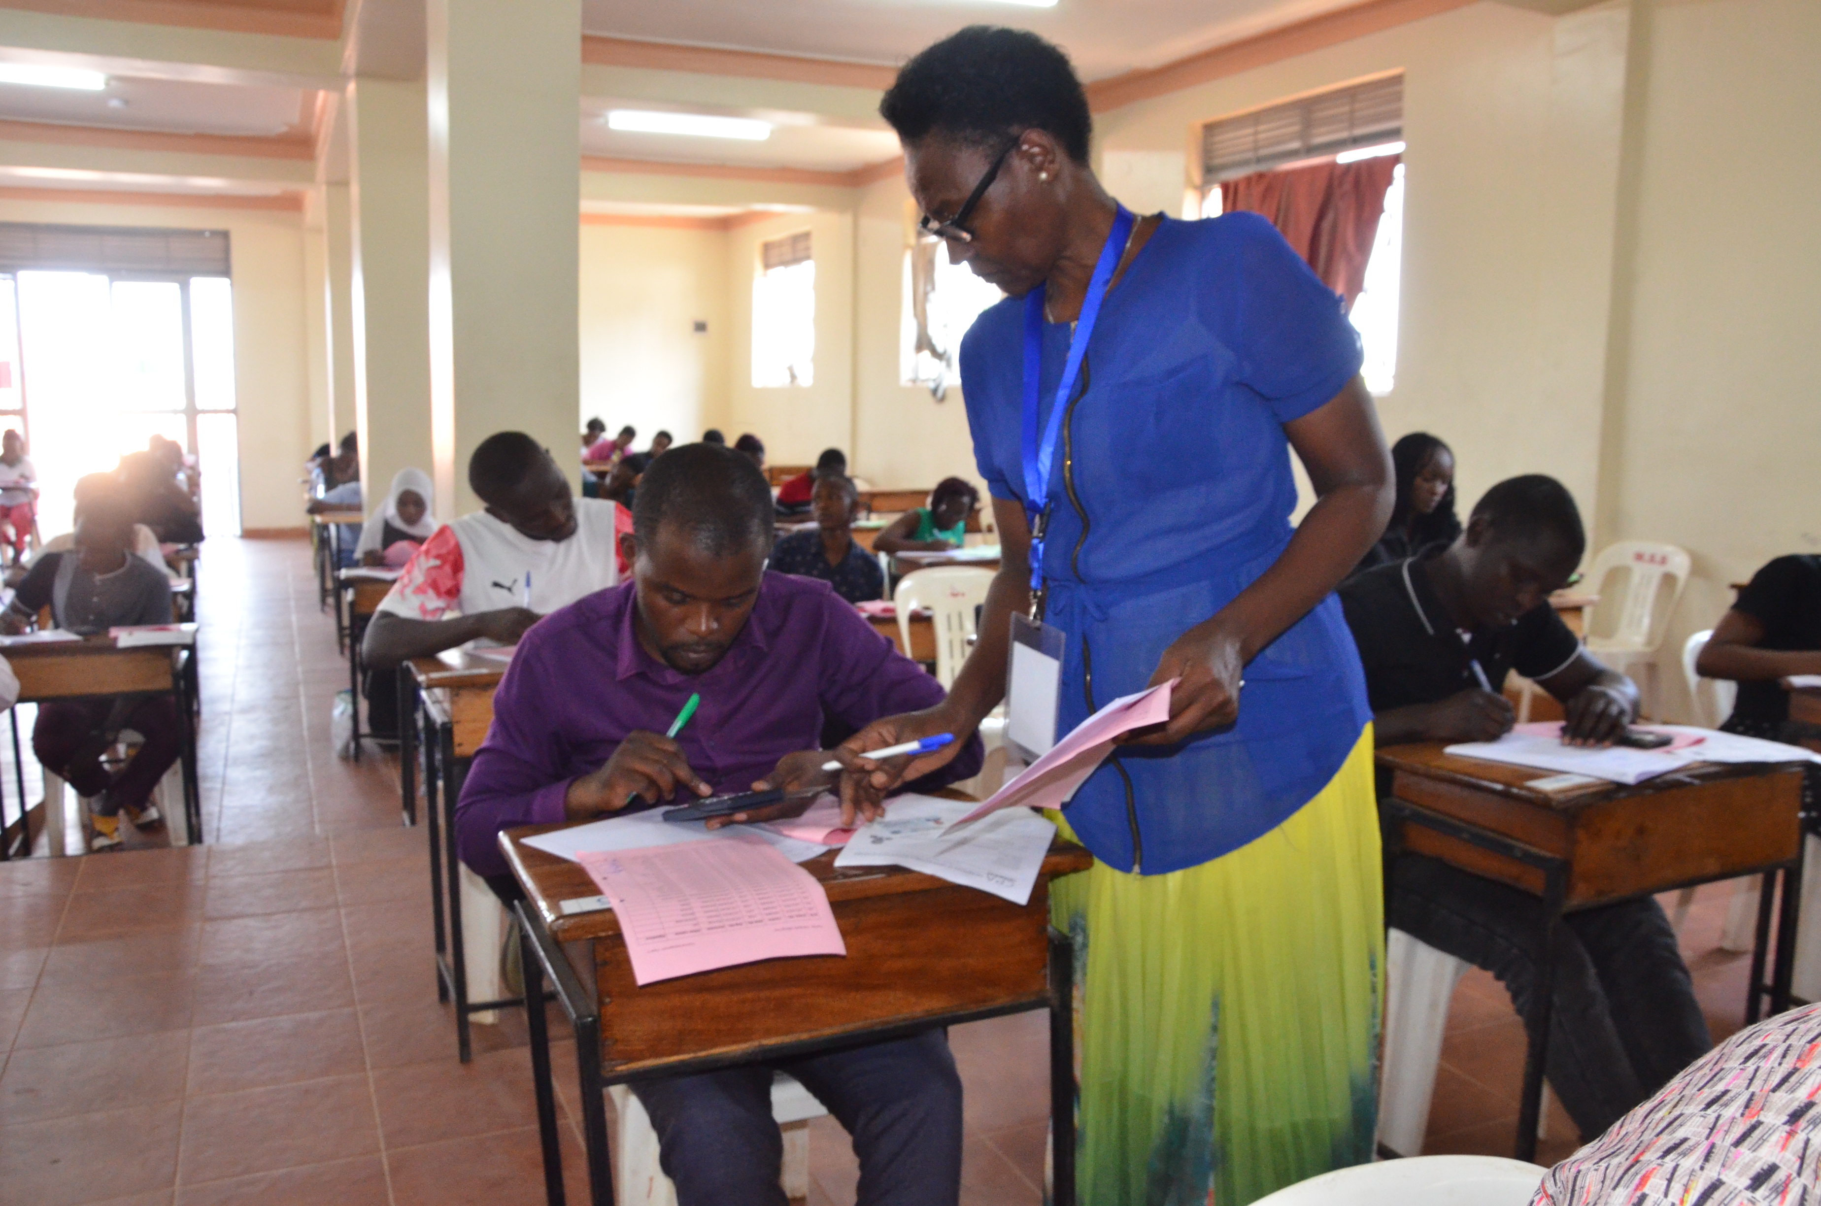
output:
[[[1033,29],[1083,80],[1156,67],[1357,0],[1060,0],[1053,9],[980,0],[583,0],[583,31],[901,64],[961,26]]]

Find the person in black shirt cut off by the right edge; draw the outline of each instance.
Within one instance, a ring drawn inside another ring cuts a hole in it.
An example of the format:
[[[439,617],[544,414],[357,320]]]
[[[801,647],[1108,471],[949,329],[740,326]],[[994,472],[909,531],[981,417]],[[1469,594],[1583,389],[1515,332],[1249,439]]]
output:
[[[1821,736],[1790,721],[1786,674],[1821,674],[1821,556],[1777,557],[1752,576],[1695,661],[1706,678],[1739,683],[1726,732],[1772,741]]]

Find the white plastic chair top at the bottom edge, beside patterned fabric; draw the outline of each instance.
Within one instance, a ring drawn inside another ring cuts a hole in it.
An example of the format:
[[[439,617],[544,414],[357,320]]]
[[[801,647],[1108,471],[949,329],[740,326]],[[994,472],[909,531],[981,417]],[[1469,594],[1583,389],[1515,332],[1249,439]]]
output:
[[[1424,1155],[1337,1168],[1253,1206],[1530,1206],[1546,1171],[1501,1155]]]

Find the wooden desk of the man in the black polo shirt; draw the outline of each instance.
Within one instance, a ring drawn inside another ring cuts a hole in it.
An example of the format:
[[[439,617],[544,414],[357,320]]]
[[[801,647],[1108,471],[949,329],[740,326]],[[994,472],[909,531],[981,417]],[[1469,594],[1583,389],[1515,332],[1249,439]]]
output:
[[[1617,900],[1783,871],[1772,1011],[1788,1007],[1801,896],[1801,765],[1695,765],[1637,787],[1597,783],[1548,794],[1550,771],[1451,758],[1440,743],[1378,751],[1388,867],[1404,851],[1541,896],[1542,966],[1524,1018],[1530,1046],[1517,1122],[1517,1159],[1537,1150],[1537,1111],[1553,993],[1551,945],[1562,913]],[[1384,792],[1384,776],[1389,792]],[[1746,1022],[1765,995],[1770,880],[1759,898]]]

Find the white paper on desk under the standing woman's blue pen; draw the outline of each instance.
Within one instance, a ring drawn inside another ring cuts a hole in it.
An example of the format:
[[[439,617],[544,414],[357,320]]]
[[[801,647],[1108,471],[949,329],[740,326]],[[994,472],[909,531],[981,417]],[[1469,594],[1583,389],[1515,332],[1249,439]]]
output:
[[[883,818],[854,831],[854,840],[834,856],[834,865],[907,867],[978,887],[1016,905],[1029,904],[1056,825],[1036,813],[1014,811],[949,833],[971,807],[967,800],[896,796],[885,803]]]

